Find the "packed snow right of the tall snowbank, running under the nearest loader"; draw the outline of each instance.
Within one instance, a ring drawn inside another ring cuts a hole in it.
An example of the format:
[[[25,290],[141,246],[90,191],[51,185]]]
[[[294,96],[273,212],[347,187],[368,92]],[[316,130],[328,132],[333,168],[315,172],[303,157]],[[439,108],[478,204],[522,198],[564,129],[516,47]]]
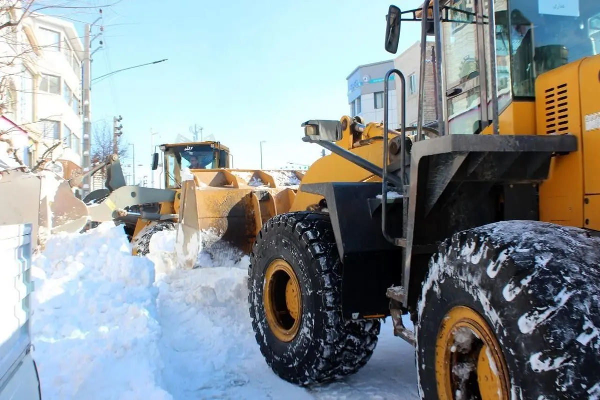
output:
[[[217,252],[208,253],[203,245],[200,268],[160,267],[172,249],[169,237],[175,232],[159,233],[151,239],[148,257],[157,264],[157,271],[167,271],[157,274],[157,304],[163,333],[164,387],[173,398],[417,397],[413,348],[394,337],[389,320],[373,358],[358,374],[310,391],[281,380],[266,365],[254,338],[248,314],[248,256],[228,259]],[[210,234],[203,232],[203,243],[210,240],[204,237]],[[166,262],[172,261],[167,257]],[[407,318],[404,323],[412,327]]]

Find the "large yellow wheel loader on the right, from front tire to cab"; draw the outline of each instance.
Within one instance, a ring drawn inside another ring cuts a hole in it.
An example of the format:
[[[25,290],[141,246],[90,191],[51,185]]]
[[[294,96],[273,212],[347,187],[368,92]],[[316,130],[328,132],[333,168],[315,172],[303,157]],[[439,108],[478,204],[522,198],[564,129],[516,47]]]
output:
[[[296,196],[319,207],[260,229],[248,270],[260,351],[284,380],[332,381],[368,362],[390,317],[415,346],[422,399],[600,398],[600,2],[392,5],[388,52],[410,21],[421,23],[416,129],[398,69],[385,75],[383,126],[303,124],[305,142],[380,181],[309,183],[319,160]],[[438,110],[427,127],[426,95]],[[347,147],[370,129],[378,141]]]

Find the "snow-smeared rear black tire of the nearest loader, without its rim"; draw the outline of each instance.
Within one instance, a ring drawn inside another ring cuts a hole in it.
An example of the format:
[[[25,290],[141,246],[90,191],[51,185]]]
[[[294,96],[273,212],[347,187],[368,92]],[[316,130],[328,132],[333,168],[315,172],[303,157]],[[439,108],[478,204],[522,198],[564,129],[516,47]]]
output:
[[[416,324],[422,398],[439,398],[436,337],[446,313],[462,305],[493,330],[512,399],[598,399],[599,265],[598,237],[544,222],[494,223],[443,243]]]

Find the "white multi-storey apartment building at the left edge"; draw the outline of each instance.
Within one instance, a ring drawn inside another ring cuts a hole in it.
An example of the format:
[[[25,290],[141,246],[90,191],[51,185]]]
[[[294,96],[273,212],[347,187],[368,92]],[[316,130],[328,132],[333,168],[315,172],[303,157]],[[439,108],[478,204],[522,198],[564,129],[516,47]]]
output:
[[[0,22],[18,21],[19,10],[2,8]],[[81,165],[82,50],[74,25],[56,17],[31,14],[0,31],[0,139],[27,166],[52,157],[69,175]]]

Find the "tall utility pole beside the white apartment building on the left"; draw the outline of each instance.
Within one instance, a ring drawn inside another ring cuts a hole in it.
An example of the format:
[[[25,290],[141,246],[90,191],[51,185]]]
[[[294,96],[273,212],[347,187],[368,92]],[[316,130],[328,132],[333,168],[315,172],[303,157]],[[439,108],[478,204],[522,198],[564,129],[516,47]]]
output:
[[[102,10],[100,10],[102,14]],[[94,37],[90,37],[92,26],[95,25],[99,20],[102,19],[102,15],[98,17],[91,24],[86,23],[83,34],[83,64],[81,68],[81,87],[82,87],[82,114],[83,114],[83,132],[82,132],[82,169],[87,172],[92,168],[91,165],[91,154],[92,154],[92,112],[91,112],[91,69],[92,69],[92,55],[101,49],[102,41],[93,52],[91,51],[92,41],[102,34],[103,27],[100,27],[100,32]],[[88,175],[83,178],[83,196],[88,195],[91,192],[91,177]]]

